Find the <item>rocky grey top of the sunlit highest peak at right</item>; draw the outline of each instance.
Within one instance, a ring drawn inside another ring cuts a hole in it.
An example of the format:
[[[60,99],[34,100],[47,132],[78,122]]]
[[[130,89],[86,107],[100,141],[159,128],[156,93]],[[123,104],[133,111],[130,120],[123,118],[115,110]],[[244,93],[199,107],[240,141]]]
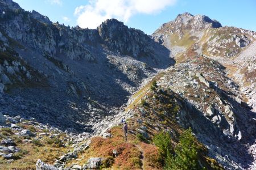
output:
[[[205,15],[192,15],[188,12],[177,15],[174,23],[184,23],[185,25],[191,25],[192,27],[202,28],[210,25],[212,28],[222,27],[221,23],[217,20],[212,20]]]

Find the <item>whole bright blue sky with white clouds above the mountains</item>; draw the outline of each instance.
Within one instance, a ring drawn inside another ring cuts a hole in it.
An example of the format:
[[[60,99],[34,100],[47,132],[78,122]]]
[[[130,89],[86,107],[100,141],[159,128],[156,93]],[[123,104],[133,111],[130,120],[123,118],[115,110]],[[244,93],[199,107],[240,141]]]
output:
[[[256,31],[255,0],[14,0],[28,11],[47,15],[52,22],[96,28],[107,18],[117,18],[150,35],[163,23],[189,12],[207,15],[223,26]]]

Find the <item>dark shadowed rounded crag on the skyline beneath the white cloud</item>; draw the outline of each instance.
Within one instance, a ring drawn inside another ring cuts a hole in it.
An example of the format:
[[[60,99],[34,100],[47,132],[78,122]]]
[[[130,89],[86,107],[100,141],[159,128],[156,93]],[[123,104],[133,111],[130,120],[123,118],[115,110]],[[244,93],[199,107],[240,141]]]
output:
[[[128,28],[116,19],[108,19],[98,27],[105,44],[115,52],[133,57],[153,56],[154,41],[138,29]]]

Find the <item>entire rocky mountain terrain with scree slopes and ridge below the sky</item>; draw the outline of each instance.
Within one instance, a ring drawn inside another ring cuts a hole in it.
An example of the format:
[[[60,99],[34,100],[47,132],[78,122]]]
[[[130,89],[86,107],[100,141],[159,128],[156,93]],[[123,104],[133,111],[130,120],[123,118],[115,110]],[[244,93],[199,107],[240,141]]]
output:
[[[204,15],[148,36],[0,0],[0,169],[256,169],[255,40]]]

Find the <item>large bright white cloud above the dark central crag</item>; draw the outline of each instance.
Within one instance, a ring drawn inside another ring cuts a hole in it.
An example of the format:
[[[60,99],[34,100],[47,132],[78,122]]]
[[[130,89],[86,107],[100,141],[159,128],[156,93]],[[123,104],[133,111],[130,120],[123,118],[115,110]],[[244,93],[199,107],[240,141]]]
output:
[[[176,0],[90,0],[88,5],[79,6],[74,14],[82,28],[96,28],[102,21],[116,18],[127,22],[135,14],[155,14]]]

